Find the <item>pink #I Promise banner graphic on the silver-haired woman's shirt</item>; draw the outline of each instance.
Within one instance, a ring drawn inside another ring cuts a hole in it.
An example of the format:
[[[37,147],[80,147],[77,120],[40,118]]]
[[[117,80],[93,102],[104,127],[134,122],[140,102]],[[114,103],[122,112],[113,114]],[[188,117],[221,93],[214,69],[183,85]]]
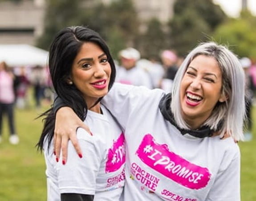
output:
[[[190,189],[205,187],[211,178],[207,168],[170,152],[167,145],[157,144],[150,134],[144,136],[136,154],[150,168]]]

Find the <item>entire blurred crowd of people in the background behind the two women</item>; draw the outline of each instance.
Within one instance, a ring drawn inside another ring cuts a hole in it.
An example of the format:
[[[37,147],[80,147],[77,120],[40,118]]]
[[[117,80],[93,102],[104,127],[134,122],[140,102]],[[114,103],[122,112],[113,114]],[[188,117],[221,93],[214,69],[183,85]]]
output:
[[[173,50],[163,50],[160,60],[141,58],[135,48],[126,48],[119,52],[116,62],[116,82],[146,86],[147,88],[162,88],[170,92],[175,74],[183,62]],[[252,140],[252,105],[255,103],[256,91],[256,61],[247,57],[240,59],[246,75],[246,107],[248,121],[245,122],[245,141]],[[41,100],[53,101],[53,87],[49,80],[49,72],[43,66],[8,67],[3,61],[0,63],[0,143],[2,141],[2,122],[4,114],[8,117],[11,144],[18,144],[14,123],[14,108],[25,109],[31,103],[28,88],[33,88],[35,108],[41,107]]]

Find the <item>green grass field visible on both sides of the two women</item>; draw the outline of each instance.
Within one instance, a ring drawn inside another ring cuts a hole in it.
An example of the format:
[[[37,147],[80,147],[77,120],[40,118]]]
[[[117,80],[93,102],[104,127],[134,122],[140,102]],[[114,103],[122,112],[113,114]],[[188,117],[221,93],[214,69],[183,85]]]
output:
[[[47,107],[45,105],[45,109]],[[33,108],[16,110],[19,145],[9,144],[4,121],[3,142],[0,144],[0,201],[46,201],[44,157],[35,148],[42,123],[34,118],[42,111]],[[256,109],[253,119],[256,119]],[[253,131],[253,141],[239,142],[242,201],[256,201],[256,125]]]

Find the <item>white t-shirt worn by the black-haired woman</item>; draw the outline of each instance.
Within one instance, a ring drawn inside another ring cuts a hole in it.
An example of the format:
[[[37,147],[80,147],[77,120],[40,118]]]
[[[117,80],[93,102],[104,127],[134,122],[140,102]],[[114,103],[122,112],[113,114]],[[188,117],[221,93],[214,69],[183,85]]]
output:
[[[103,115],[88,110],[84,129],[77,129],[83,157],[79,158],[69,141],[65,165],[56,162],[53,143],[49,152],[44,145],[48,201],[60,201],[61,193],[94,195],[95,201],[119,201],[124,186],[124,134],[111,114],[102,105]],[[46,140],[47,141],[47,140]]]

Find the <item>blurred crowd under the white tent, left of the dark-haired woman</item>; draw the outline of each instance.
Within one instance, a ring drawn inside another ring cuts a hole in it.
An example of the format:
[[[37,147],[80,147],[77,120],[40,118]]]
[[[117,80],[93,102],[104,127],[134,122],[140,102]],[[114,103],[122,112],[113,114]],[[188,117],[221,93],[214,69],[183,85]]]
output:
[[[41,107],[42,99],[53,101],[52,84],[47,68],[43,66],[9,67],[4,61],[0,62],[0,143],[3,140],[4,116],[8,120],[9,142],[13,145],[19,143],[14,112],[15,108],[30,107],[28,88],[33,88],[35,108]]]

